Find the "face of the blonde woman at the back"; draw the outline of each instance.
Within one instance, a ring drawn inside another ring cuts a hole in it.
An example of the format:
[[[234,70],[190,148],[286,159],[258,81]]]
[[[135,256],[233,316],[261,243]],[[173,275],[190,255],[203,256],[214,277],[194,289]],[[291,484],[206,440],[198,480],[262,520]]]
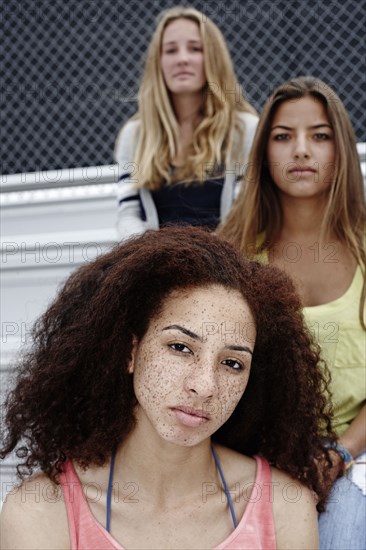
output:
[[[194,21],[176,19],[162,38],[161,70],[173,94],[200,93],[206,84],[200,29]]]

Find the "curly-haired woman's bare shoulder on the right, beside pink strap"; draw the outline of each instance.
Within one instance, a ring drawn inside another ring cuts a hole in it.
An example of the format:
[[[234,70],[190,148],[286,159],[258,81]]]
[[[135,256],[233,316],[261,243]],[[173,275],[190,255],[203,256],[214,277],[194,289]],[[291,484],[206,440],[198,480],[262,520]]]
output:
[[[271,475],[277,547],[317,549],[318,515],[313,493],[276,468],[271,468]]]

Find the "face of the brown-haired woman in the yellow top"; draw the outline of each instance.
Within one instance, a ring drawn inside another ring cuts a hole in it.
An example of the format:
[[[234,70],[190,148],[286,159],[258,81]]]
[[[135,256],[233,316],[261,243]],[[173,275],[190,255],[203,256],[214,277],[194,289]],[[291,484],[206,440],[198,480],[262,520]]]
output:
[[[283,102],[277,109],[267,160],[280,196],[324,196],[334,179],[333,129],[321,101],[314,97]]]

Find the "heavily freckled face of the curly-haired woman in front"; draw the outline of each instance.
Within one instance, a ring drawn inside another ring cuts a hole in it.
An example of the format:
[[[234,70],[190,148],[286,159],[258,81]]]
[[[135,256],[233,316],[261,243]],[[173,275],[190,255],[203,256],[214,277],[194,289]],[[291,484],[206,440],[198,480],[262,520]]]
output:
[[[254,326],[238,291],[173,292],[134,348],[136,429],[186,446],[216,432],[247,385]]]

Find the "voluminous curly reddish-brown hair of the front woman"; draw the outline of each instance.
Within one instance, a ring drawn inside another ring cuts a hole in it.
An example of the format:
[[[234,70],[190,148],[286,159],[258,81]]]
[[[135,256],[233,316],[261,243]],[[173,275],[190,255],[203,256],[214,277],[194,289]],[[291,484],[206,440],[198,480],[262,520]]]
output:
[[[248,386],[213,439],[263,455],[324,500],[327,473],[319,477],[316,459],[330,465],[330,400],[294,286],[188,227],[148,231],[82,266],[36,323],[7,398],[1,450],[3,458],[16,449],[21,479],[40,468],[55,480],[66,459],[108,460],[134,428],[133,337],[141,340],[173,290],[212,284],[242,294],[257,331]]]

